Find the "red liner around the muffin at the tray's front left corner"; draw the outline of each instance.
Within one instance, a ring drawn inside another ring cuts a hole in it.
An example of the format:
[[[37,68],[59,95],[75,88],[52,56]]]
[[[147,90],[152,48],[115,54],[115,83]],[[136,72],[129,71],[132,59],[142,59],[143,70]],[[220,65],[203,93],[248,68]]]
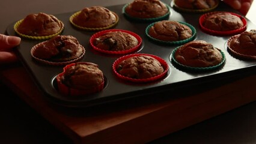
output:
[[[79,62],[79,63],[82,64],[82,63],[86,63],[86,62]],[[88,88],[88,89],[75,89],[75,88],[70,88],[69,86],[64,85],[61,82],[61,77],[63,76],[63,74],[65,73],[67,68],[72,67],[72,65],[75,65],[75,63],[66,65],[66,67],[63,68],[63,72],[59,73],[58,76],[56,76],[56,82],[57,82],[57,85],[58,85],[58,91],[62,95],[66,95],[66,96],[79,96],[79,95],[89,95],[89,94],[93,94],[93,93],[102,91],[102,89],[105,86],[105,80],[103,80],[103,82],[99,86],[91,87],[91,88]]]

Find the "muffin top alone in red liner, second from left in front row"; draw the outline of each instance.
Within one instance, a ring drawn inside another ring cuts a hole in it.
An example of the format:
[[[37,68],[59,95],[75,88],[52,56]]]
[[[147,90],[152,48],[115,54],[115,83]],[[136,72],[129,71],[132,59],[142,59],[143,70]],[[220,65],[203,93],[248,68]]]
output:
[[[141,55],[124,59],[117,65],[117,72],[133,79],[147,79],[163,73],[163,67],[157,59]]]

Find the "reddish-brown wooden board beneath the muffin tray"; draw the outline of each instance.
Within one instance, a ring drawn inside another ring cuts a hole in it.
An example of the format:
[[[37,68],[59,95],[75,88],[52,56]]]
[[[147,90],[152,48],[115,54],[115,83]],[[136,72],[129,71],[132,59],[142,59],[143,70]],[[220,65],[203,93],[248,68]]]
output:
[[[255,71],[255,70],[254,70]],[[251,71],[251,73],[254,73]],[[46,100],[25,68],[0,71],[1,80],[75,143],[145,143],[256,100],[256,75],[232,77],[165,97],[68,109]]]

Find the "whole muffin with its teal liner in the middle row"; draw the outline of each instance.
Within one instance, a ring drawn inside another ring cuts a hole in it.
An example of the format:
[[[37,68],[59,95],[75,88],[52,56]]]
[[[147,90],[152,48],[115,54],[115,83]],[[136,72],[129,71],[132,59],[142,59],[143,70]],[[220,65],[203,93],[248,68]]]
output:
[[[188,23],[162,20],[148,26],[146,34],[149,38],[162,43],[181,44],[194,38],[195,28]]]

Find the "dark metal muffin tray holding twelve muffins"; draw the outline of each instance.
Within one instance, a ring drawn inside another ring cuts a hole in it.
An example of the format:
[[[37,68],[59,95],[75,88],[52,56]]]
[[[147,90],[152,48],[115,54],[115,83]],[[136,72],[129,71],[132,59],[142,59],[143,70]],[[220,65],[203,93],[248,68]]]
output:
[[[175,65],[173,65],[171,62],[171,53],[177,46],[167,46],[150,41],[145,34],[145,28],[147,28],[150,23],[132,22],[126,19],[122,13],[124,5],[106,7],[109,10],[117,13],[119,16],[120,20],[114,29],[126,29],[141,36],[142,47],[136,53],[148,53],[164,59],[169,65],[168,74],[164,77],[164,79],[153,83],[132,83],[124,82],[123,80],[115,77],[115,74],[112,71],[112,64],[116,59],[120,58],[120,55],[106,55],[93,50],[93,48],[90,46],[89,40],[91,35],[93,35],[95,32],[76,29],[69,22],[70,16],[72,16],[75,11],[70,13],[55,14],[55,16],[64,23],[64,31],[62,32],[62,35],[73,35],[78,39],[79,43],[85,47],[85,56],[81,61],[98,64],[100,70],[103,71],[106,78],[106,85],[103,91],[91,95],[82,95],[80,97],[64,97],[63,95],[59,94],[58,89],[56,88],[55,80],[56,75],[62,72],[64,66],[40,64],[34,61],[31,56],[31,48],[35,44],[42,41],[22,38],[20,46],[16,47],[16,52],[19,55],[23,65],[26,67],[26,70],[28,70],[29,74],[31,74],[32,79],[35,81],[38,88],[40,88],[41,91],[43,91],[46,95],[46,98],[49,98],[49,100],[53,103],[67,107],[90,107],[112,101],[141,97],[148,94],[154,95],[154,97],[161,97],[161,95],[157,95],[160,94],[160,92],[175,91],[175,88],[195,86],[198,83],[206,83],[210,86],[210,83],[213,81],[216,82],[217,80],[224,79],[224,77],[228,76],[242,75],[243,73],[246,73],[246,71],[251,70],[251,68],[256,68],[256,61],[240,60],[234,58],[228,52],[227,40],[231,37],[231,35],[214,36],[201,31],[199,26],[199,18],[203,13],[186,13],[175,11],[172,4],[170,4],[170,6],[171,15],[169,16],[169,20],[177,20],[179,22],[186,22],[193,25],[197,30],[195,40],[205,40],[207,43],[212,43],[213,46],[218,47],[225,53],[227,60],[223,67],[217,70],[201,73],[182,71],[175,67]],[[237,11],[232,10],[227,5],[222,4],[222,2],[214,11],[231,11],[237,13]],[[256,26],[248,19],[247,22],[246,31],[256,29]],[[14,23],[11,23],[11,25],[7,27],[8,35],[16,35],[13,29]],[[171,94],[169,94],[169,96],[171,97]]]

